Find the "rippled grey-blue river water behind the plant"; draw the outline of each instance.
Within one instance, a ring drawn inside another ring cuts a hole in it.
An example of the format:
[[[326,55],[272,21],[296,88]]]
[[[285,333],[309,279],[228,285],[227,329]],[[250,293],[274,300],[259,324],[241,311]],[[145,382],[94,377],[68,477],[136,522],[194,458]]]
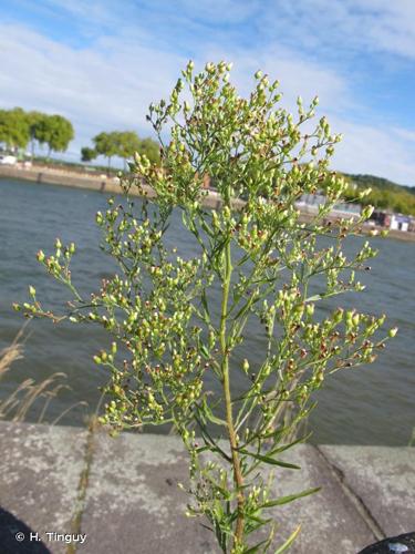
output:
[[[60,306],[70,298],[35,259],[40,248],[53,250],[58,236],[79,247],[73,276],[81,290],[96,289],[111,275],[115,266],[100,250],[101,233],[94,224],[96,211],[105,206],[105,195],[92,191],[0,179],[0,348],[21,328],[22,316],[11,304],[28,299],[30,284],[45,305]],[[172,243],[183,244],[177,214],[169,233]],[[309,422],[313,442],[404,445],[415,427],[415,243],[374,239],[373,244],[380,254],[371,261],[371,275],[361,278],[370,286],[347,300],[362,311],[386,312],[388,326],[397,326],[400,332],[372,366],[340,371],[326,380]],[[190,255],[194,246],[185,246]],[[98,387],[108,378],[92,356],[110,338],[94,326],[55,326],[43,320],[30,322],[25,335],[24,357],[0,382],[0,397],[10,394],[28,377],[41,381],[62,371],[71,389],[61,390],[52,400],[49,420],[74,407],[61,422],[81,424],[85,413],[96,408]],[[250,359],[260,359],[262,349],[260,336],[251,328]],[[80,401],[89,408],[76,406]],[[39,409],[30,418],[38,416]]]

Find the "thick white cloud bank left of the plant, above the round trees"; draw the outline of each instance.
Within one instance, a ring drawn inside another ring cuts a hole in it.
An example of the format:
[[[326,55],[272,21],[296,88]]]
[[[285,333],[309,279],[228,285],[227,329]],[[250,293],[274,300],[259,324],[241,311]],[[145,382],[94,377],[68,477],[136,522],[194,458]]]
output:
[[[23,27],[0,25],[0,104],[68,116],[75,145],[106,129],[146,127],[148,134],[148,104],[169,91],[186,61],[139,45],[111,47],[111,54],[75,50]]]

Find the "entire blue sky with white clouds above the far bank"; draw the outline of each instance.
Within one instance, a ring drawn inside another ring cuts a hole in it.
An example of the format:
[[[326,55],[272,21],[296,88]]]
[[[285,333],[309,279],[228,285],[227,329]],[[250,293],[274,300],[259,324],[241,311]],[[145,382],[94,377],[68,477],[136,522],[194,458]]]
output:
[[[68,160],[101,131],[152,136],[148,104],[189,59],[261,69],[283,104],[320,98],[333,167],[415,186],[415,0],[0,0],[0,107],[59,113]]]

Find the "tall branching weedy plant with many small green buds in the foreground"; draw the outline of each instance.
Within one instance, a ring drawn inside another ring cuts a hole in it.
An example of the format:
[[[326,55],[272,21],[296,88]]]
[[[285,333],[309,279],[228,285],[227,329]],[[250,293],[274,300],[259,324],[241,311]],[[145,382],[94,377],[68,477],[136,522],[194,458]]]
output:
[[[112,347],[94,358],[112,375],[102,420],[115,429],[173,424],[190,458],[188,514],[205,515],[220,548],[237,554],[266,552],[273,544],[267,510],[313,492],[272,497],[262,471],[295,468],[280,453],[301,440],[292,437],[313,392],[326,376],[372,362],[388,337],[374,338],[385,316],[314,312],[328,297],[362,290],[354,271],[375,255],[367,243],[352,258],[342,253],[371,207],[359,220],[330,224],[346,184],[329,171],[340,136],[325,117],[312,125],[318,99],[304,107],[299,98],[293,116],[279,107],[278,82],[259,71],[243,99],[229,70],[208,63],[194,75],[189,62],[169,100],[149,106],[160,165],[136,155],[134,176],[123,179],[126,205],[110,199],[96,216],[120,273],[83,298],[70,273],[75,247],[58,240],[53,256],[38,258],[73,294],[69,311],[44,310],[33,288],[24,309],[108,330]],[[217,211],[204,207],[207,177],[220,197]],[[135,206],[128,193],[143,184],[153,187],[154,204]],[[304,223],[295,201],[319,189],[325,203]],[[199,247],[195,257],[166,246],[176,208],[183,242],[187,233]],[[261,360],[240,356],[255,322],[267,343]],[[210,392],[212,380],[220,393]],[[255,533],[263,526],[269,534]]]

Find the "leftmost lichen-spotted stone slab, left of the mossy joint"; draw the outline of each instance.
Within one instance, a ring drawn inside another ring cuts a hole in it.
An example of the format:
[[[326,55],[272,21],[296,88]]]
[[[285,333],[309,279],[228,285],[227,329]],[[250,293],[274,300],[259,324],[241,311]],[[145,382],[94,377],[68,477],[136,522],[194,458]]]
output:
[[[82,429],[0,423],[1,554],[66,552],[53,533],[71,533],[85,441]]]

